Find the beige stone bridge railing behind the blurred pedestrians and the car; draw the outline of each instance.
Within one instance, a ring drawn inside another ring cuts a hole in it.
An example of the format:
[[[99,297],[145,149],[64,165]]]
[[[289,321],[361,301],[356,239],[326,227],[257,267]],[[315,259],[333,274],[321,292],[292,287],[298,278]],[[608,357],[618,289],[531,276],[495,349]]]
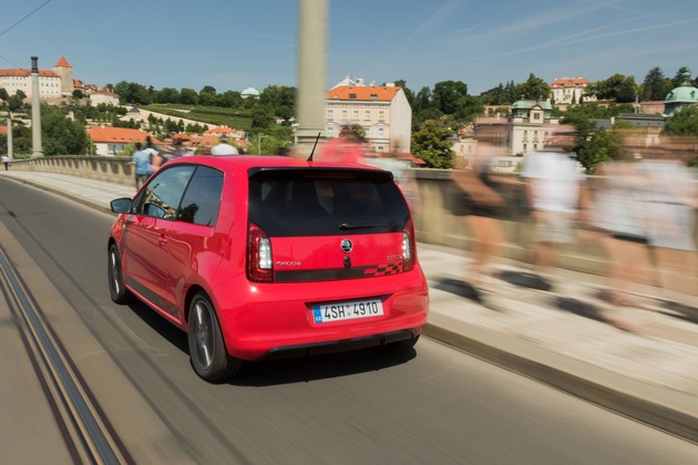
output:
[[[52,156],[14,161],[12,169],[61,173],[71,176],[99,179],[109,183],[133,184],[133,166],[126,157],[112,156]],[[473,237],[458,204],[463,194],[452,180],[450,169],[414,169],[420,204],[414,209],[414,226],[420,242],[445,246],[462,251],[471,250]],[[512,180],[517,178],[511,175]],[[593,178],[591,179],[594,180]],[[500,194],[505,199],[506,215],[501,221],[505,244],[501,256],[521,262],[532,262],[531,248],[533,221],[523,208],[522,187],[517,183],[504,183]],[[561,267],[593,275],[605,276],[609,271],[608,254],[602,246],[603,234],[594,230],[578,230],[577,240],[564,246],[558,254]],[[694,228],[698,242],[698,227]],[[697,252],[686,252],[689,260],[698,260]],[[465,271],[448,270],[454,273]],[[656,277],[648,272],[646,283],[655,283]],[[698,294],[698,277],[694,280],[694,291]]]

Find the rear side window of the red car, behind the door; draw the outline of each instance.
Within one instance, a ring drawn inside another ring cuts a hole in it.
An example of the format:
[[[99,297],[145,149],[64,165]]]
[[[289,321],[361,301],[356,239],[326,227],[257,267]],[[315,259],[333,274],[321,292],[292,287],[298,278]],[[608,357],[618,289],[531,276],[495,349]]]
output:
[[[184,193],[177,211],[181,221],[214,226],[220,207],[223,173],[206,166],[199,166]]]

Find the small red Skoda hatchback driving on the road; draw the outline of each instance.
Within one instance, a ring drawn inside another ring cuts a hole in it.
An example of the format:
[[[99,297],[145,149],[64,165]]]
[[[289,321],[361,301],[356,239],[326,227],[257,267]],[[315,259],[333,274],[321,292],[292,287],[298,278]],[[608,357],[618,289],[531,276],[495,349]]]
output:
[[[407,351],[427,322],[412,216],[390,172],[182,157],[111,208],[112,300],[135,296],[186,331],[205,380],[242,361]]]

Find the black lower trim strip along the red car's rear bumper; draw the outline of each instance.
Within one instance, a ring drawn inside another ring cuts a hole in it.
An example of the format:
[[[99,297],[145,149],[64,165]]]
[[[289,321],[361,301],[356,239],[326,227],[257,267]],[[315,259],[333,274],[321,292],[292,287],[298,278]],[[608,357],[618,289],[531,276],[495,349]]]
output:
[[[420,332],[415,330],[401,330],[382,334],[368,335],[363,338],[343,339],[340,341],[316,342],[300,345],[284,345],[269,350],[259,359],[257,359],[257,361],[298,359],[312,355],[321,355],[326,353],[376,348],[387,345],[392,342],[413,340],[418,338],[419,334]]]

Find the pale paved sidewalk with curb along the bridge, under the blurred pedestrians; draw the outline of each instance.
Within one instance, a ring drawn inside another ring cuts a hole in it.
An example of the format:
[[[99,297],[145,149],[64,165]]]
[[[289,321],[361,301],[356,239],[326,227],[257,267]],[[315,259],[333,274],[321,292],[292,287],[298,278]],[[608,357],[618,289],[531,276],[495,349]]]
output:
[[[102,211],[133,186],[39,172],[6,177]],[[461,279],[468,252],[418,245],[430,283],[424,334],[578,397],[698,442],[698,301],[639,287],[644,309],[597,298],[598,277],[558,269],[550,291],[519,286],[527,266],[503,261],[496,293]],[[613,318],[610,320],[609,318]],[[627,323],[634,330],[622,329]],[[419,348],[418,348],[419,351]]]

